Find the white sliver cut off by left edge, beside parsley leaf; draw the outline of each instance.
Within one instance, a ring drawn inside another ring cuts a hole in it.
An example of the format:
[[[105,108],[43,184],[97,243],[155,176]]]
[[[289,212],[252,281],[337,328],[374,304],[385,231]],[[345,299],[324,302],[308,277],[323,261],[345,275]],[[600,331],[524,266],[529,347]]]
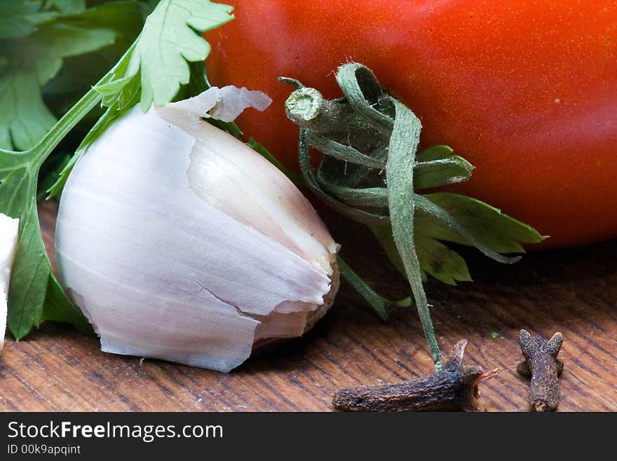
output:
[[[17,253],[19,220],[0,213],[0,351],[4,348],[8,286]]]

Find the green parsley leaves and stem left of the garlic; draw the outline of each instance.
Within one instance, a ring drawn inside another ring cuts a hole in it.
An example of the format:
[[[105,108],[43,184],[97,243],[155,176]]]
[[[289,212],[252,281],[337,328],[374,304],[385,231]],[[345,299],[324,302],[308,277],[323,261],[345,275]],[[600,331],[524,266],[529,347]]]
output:
[[[57,194],[79,154],[117,116],[136,102],[141,102],[144,110],[152,102],[170,102],[179,87],[189,83],[191,68],[196,68],[187,61],[203,61],[210,51],[201,32],[233,18],[231,6],[207,0],[162,0],[116,66],[54,125],[53,115],[41,100],[41,86],[60,69],[62,58],[93,51],[114,39],[108,29],[89,27],[97,25],[100,10],[83,8],[83,1],[71,0],[44,5],[41,1],[8,0],[0,7],[0,13],[5,13],[4,22],[0,22],[0,37],[12,47],[8,59],[0,62],[0,99],[3,108],[5,100],[10,103],[6,107],[20,108],[17,114],[6,111],[8,115],[3,114],[5,118],[0,119],[0,141],[8,148],[0,149],[0,213],[20,219],[8,300],[8,327],[17,339],[43,320],[72,323],[83,332],[91,332],[88,321],[55,279],[43,245],[36,210],[36,182],[43,162],[88,112],[101,103],[107,107],[51,188],[52,194]],[[79,18],[74,15],[76,12]],[[88,18],[93,22],[88,22]],[[195,78],[203,79],[203,71]],[[20,82],[31,93],[22,94],[25,89]],[[24,121],[24,116],[29,115],[24,111],[28,110],[34,114],[31,124]]]

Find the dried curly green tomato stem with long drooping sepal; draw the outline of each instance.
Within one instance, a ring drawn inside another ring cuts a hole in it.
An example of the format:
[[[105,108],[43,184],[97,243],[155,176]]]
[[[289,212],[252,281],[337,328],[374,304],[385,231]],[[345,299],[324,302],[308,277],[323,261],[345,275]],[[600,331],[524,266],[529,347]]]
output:
[[[440,368],[441,353],[414,246],[419,120],[398,100],[384,95],[372,72],[356,63],[339,68],[337,81],[345,97],[337,100],[325,100],[319,91],[299,81],[283,81],[297,88],[285,102],[285,112],[301,127],[299,160],[306,183],[353,220],[369,226],[391,225],[435,368]],[[309,158],[311,146],[325,154],[317,173]],[[394,303],[369,288],[344,261],[339,265],[344,278],[386,319]],[[407,300],[400,305],[407,305]]]

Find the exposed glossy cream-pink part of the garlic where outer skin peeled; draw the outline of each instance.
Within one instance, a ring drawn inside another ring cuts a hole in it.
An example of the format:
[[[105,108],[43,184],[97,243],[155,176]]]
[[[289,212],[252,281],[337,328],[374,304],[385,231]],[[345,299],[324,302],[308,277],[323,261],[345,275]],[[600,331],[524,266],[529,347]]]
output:
[[[221,93],[229,94],[227,88],[235,87],[224,87]],[[260,92],[249,92],[256,94],[248,98],[240,89],[236,90],[238,98],[250,100],[260,110],[269,104],[259,99]],[[333,254],[337,252],[336,243],[306,197],[272,163],[255,155],[240,140],[227,139],[227,133],[199,119],[198,107],[205,100],[208,100],[206,107],[210,107],[212,100],[208,93],[214,91],[219,90],[210,88],[194,98],[156,109],[163,119],[201,141],[191,154],[191,187],[212,206],[278,239],[332,274],[332,261],[324,258],[323,246]],[[228,96],[229,99],[233,100]],[[253,171],[260,174],[254,175]],[[243,195],[242,199],[238,199],[238,194]]]

